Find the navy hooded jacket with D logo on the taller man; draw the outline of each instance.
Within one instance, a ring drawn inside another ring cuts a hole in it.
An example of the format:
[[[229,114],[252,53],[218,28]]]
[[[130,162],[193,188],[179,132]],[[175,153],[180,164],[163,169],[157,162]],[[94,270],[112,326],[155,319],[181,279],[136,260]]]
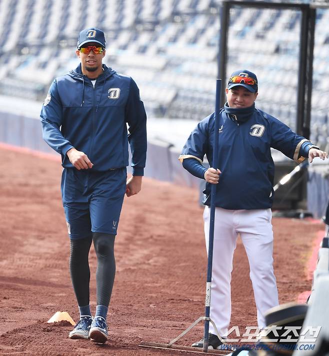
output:
[[[146,114],[139,90],[130,77],[102,67],[94,88],[81,65],[52,82],[40,113],[43,139],[61,154],[63,167],[73,167],[66,152],[74,147],[95,171],[126,167],[129,142],[132,174],[143,175]]]

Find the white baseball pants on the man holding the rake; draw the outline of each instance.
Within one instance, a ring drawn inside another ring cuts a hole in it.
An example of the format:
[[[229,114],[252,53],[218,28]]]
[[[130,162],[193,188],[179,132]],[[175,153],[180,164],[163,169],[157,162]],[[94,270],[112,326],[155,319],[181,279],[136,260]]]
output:
[[[266,326],[264,312],[278,305],[276,280],[273,272],[271,218],[271,209],[215,209],[210,318],[215,323],[220,336],[227,332],[230,322],[230,281],[233,253],[238,234],[240,234],[249,261],[259,328]],[[208,206],[204,209],[203,220],[205,244],[208,251],[210,223],[210,208]],[[211,323],[209,323],[209,332],[215,334]]]

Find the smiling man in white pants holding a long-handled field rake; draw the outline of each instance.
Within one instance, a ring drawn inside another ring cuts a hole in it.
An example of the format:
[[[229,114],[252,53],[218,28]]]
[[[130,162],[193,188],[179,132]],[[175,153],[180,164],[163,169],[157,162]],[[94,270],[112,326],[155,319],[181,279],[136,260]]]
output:
[[[273,116],[255,108],[258,83],[254,73],[232,73],[226,88],[227,102],[219,114],[218,170],[212,167],[214,113],[198,123],[179,156],[183,167],[206,180],[204,233],[209,237],[210,184],[216,184],[215,223],[210,318],[219,336],[227,333],[230,322],[230,280],[236,238],[240,234],[250,267],[259,328],[265,325],[264,312],[278,305],[273,273],[273,147],[296,162],[308,157],[325,159],[327,153],[292,132]],[[210,168],[202,166],[206,155]],[[209,325],[209,346],[221,341]],[[203,339],[192,344],[203,347]]]

